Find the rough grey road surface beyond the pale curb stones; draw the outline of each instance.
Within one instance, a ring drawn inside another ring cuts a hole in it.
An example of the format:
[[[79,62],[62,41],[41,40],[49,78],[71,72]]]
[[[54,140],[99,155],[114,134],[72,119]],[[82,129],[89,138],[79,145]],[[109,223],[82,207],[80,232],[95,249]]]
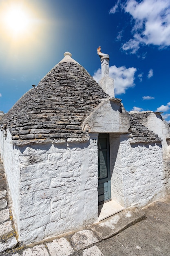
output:
[[[146,219],[97,244],[104,256],[170,256],[170,195],[144,211]]]

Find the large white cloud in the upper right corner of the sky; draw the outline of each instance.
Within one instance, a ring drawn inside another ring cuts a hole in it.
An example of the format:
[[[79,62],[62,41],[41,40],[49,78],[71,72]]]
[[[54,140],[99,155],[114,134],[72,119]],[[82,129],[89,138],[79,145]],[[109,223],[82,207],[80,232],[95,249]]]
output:
[[[118,0],[110,13],[115,13],[118,6],[134,20],[133,37],[122,49],[135,54],[141,45],[170,45],[170,0],[127,0],[124,6]]]

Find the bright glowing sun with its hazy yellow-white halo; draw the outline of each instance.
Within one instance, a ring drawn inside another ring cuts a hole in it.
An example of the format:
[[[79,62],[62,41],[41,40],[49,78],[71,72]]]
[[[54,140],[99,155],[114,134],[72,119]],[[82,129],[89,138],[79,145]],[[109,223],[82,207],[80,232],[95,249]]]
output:
[[[0,0],[0,53],[6,53],[7,60],[17,62],[22,54],[29,59],[33,49],[40,51],[49,20],[36,2]]]

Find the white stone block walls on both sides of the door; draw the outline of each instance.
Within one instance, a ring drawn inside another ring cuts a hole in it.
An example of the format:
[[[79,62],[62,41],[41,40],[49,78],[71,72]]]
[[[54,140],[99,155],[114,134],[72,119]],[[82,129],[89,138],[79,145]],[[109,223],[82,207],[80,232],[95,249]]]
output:
[[[97,133],[87,142],[13,146],[0,135],[20,240],[31,243],[97,221]],[[130,144],[110,133],[111,197],[142,207],[167,193],[169,162],[159,144]]]

